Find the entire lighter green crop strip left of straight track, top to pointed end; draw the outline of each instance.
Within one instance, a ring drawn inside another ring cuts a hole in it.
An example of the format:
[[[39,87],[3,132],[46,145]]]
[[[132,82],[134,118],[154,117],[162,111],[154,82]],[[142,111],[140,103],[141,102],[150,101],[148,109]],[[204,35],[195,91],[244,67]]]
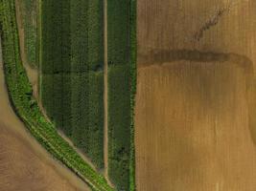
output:
[[[71,0],[73,141],[104,168],[103,1]]]

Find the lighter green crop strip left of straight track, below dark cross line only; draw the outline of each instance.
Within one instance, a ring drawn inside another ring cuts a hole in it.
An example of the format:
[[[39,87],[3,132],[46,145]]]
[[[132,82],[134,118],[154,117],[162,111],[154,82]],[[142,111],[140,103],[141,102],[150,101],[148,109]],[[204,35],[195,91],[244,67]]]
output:
[[[71,92],[72,140],[101,169],[104,167],[103,83],[103,72],[79,74],[72,78]]]

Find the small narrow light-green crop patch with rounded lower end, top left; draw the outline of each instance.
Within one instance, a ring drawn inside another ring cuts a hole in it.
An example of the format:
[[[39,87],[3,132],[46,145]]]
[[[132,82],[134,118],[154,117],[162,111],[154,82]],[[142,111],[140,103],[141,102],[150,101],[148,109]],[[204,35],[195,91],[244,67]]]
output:
[[[22,14],[22,26],[24,28],[24,48],[28,64],[36,68],[38,63],[38,40],[37,40],[37,0],[19,0]]]

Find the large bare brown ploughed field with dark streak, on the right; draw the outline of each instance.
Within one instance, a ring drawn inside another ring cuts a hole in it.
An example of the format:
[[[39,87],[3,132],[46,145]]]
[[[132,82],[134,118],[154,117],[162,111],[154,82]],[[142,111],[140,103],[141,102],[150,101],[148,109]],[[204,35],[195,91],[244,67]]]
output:
[[[256,2],[138,1],[138,191],[256,190]]]

